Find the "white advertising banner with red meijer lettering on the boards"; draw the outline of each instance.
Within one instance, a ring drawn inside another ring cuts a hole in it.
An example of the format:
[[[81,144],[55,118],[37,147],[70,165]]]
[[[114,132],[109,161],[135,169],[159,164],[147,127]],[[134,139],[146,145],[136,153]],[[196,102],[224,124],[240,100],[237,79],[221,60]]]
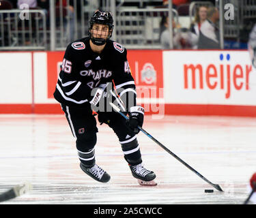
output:
[[[166,104],[256,106],[256,70],[248,52],[163,52]]]

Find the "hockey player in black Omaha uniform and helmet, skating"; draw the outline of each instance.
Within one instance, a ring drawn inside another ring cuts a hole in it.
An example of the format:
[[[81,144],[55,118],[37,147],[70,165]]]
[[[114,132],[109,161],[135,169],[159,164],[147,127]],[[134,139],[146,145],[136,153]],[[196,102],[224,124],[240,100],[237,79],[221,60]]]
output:
[[[66,48],[54,97],[61,104],[76,138],[81,169],[96,181],[106,183],[111,176],[96,164],[95,159],[98,128],[92,108],[106,101],[106,86],[113,83],[129,119],[126,122],[117,112],[99,110],[98,121],[109,125],[117,135],[132,176],[141,185],[156,185],[154,172],[143,166],[136,137],[139,133],[137,126],[143,125],[144,110],[136,104],[137,93],[126,48],[110,40],[112,32],[111,13],[94,12],[89,23],[89,36]]]

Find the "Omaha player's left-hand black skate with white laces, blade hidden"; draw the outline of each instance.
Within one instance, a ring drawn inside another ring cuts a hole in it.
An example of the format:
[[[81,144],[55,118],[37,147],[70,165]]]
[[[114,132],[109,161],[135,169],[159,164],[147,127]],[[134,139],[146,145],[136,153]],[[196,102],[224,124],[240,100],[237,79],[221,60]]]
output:
[[[94,178],[100,183],[107,183],[111,178],[110,175],[102,168],[100,168],[97,164],[95,164],[91,168],[87,168],[83,165],[83,163],[80,163],[80,167],[83,172],[85,172],[88,176],[91,176],[91,178]]]

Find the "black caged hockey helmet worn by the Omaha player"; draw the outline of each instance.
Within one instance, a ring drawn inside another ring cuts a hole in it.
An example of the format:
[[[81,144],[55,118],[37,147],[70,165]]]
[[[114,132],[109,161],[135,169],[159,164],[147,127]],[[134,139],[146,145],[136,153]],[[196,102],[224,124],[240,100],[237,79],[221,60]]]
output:
[[[114,20],[113,20],[113,16],[112,16],[111,12],[104,12],[104,11],[100,11],[100,10],[97,10],[96,12],[94,12],[94,14],[93,14],[93,16],[91,16],[91,19],[89,22],[89,37],[91,38],[91,42],[93,42],[94,44],[96,44],[98,46],[105,44],[106,40],[109,40],[112,35],[113,29],[114,29],[113,22],[114,22]],[[106,40],[92,37],[91,29],[94,26],[94,23],[109,26],[109,37]]]

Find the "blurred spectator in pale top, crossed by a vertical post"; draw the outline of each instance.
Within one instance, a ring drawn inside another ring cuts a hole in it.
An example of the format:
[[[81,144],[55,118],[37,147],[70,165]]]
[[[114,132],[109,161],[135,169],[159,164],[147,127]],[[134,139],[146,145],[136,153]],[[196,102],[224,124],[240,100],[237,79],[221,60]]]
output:
[[[173,20],[173,48],[191,48],[188,29],[181,28],[179,24],[176,24]],[[160,44],[162,49],[170,49],[170,33],[169,33],[169,18],[165,18],[164,23],[166,29],[160,35]]]

